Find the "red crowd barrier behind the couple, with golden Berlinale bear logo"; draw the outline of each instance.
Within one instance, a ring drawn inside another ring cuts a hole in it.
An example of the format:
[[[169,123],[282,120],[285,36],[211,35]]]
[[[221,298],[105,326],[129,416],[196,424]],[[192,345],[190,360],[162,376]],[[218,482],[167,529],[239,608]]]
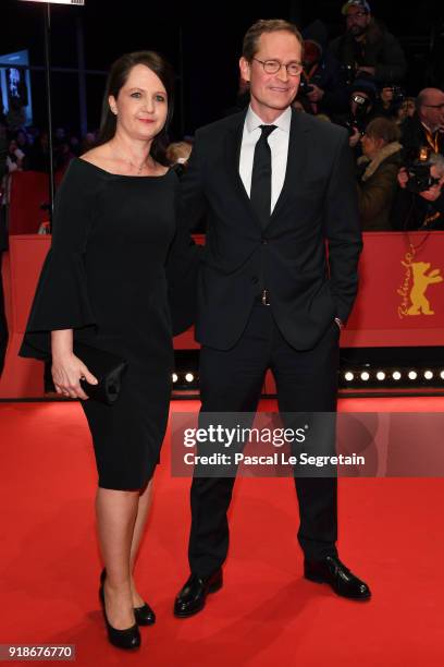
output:
[[[198,238],[197,242],[202,242]],[[42,365],[17,356],[50,237],[10,238],[3,260],[10,340],[0,398],[44,396]],[[442,345],[444,341],[444,232],[363,234],[359,294],[341,335],[345,348]],[[189,329],[177,350],[198,349]]]

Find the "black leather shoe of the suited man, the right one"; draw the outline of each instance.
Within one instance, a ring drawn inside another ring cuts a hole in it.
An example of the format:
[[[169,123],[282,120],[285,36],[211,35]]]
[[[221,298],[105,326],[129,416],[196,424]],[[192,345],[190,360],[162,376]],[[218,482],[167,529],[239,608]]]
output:
[[[322,560],[306,560],[304,563],[306,579],[317,583],[328,583],[337,595],[350,599],[370,599],[369,586],[355,577],[337,556],[326,556]]]

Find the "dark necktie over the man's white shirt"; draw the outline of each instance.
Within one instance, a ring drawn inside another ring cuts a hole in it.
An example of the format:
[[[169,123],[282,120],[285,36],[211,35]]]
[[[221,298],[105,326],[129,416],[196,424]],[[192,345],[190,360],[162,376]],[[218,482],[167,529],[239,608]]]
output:
[[[260,125],[262,134],[255,146],[252,159],[250,201],[262,225],[270,222],[271,211],[271,150],[268,137],[276,125]]]

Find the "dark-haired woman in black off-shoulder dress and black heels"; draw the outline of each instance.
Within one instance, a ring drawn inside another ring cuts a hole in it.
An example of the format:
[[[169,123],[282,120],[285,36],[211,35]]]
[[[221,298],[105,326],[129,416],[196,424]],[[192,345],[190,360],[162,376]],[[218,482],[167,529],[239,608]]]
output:
[[[83,399],[99,475],[104,620],[111,643],[124,648],[139,645],[138,624],[155,622],[133,568],[171,392],[165,266],[196,264],[175,229],[176,175],[163,166],[172,85],[169,65],[151,51],[112,66],[102,140],[71,162],[58,193],[52,245],[21,350],[52,354],[57,391]],[[113,405],[86,400],[79,380],[96,378],[74,355],[73,340],[126,360]]]

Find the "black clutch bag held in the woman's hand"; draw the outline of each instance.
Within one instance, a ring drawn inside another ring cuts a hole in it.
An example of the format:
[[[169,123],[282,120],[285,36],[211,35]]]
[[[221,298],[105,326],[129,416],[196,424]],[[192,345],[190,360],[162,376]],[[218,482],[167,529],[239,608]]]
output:
[[[98,350],[83,342],[74,342],[73,351],[98,379],[97,385],[81,379],[82,389],[87,397],[107,405],[115,403],[127,362],[112,352]]]

